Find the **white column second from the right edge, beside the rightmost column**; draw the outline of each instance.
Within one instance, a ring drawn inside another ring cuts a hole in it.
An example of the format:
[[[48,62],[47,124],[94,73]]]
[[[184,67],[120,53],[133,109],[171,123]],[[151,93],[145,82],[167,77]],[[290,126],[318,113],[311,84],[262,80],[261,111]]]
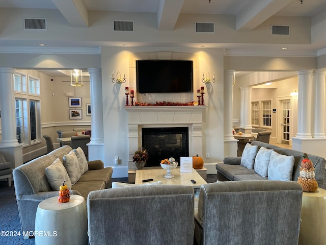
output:
[[[299,70],[298,82],[298,109],[296,138],[308,139],[311,137],[311,108],[312,108],[312,70]]]

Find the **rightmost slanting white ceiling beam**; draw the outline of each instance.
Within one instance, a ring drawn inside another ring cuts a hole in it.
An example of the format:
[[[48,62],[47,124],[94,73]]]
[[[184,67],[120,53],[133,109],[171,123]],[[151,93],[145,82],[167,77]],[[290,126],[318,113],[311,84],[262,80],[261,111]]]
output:
[[[293,0],[253,0],[236,15],[237,31],[252,31]],[[300,4],[300,3],[299,3]]]

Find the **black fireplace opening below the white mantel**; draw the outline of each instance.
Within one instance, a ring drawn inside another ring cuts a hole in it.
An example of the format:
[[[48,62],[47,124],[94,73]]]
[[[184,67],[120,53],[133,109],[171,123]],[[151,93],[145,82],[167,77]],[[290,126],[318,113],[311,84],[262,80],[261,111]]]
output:
[[[160,166],[160,160],[189,156],[188,128],[142,128],[142,146],[148,151],[147,167]]]

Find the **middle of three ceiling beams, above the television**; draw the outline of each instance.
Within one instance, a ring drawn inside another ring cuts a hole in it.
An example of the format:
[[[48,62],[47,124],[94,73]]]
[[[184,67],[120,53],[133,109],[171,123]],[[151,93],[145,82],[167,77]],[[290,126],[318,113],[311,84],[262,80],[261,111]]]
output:
[[[157,8],[157,28],[173,30],[178,20],[184,0],[159,0]]]

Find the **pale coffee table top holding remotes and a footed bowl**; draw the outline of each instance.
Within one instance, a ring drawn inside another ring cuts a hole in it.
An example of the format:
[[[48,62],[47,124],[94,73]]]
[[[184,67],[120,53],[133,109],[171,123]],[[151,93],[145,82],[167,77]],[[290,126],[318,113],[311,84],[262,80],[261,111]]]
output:
[[[167,170],[163,168],[157,169],[138,169],[136,170],[135,184],[144,184],[143,180],[153,179],[153,181],[145,182],[151,183],[156,181],[162,181],[164,185],[189,185],[194,188],[200,188],[201,185],[207,184],[207,182],[193,169],[193,173],[180,173],[180,168],[172,169],[174,178],[166,179],[164,176],[167,174]],[[191,182],[195,180],[196,184]]]

